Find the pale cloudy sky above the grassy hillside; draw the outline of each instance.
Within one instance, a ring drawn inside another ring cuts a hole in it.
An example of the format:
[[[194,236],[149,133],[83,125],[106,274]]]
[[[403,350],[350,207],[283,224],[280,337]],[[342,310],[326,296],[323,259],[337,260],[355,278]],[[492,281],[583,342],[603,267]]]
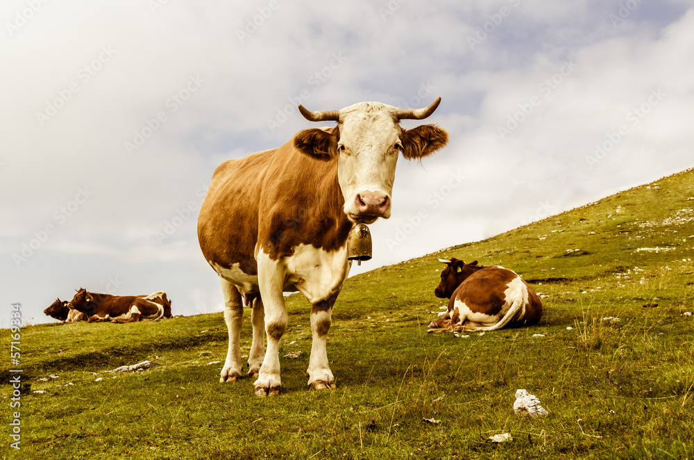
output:
[[[5,0],[0,24],[0,327],[77,288],[222,311],[205,190],[318,126],[298,104],[442,99],[403,126],[448,146],[398,161],[352,274],[694,166],[690,1]]]

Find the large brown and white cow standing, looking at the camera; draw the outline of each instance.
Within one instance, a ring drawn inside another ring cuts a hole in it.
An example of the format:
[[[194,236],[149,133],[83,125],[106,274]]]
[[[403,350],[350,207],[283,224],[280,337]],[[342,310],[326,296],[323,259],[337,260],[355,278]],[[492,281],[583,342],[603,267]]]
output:
[[[287,329],[282,292],[298,290],[312,304],[308,386],[335,388],[325,340],[351,266],[348,234],[355,223],[390,216],[400,153],[419,159],[446,145],[448,133],[438,126],[400,126],[400,120],[430,116],[440,101],[417,110],[378,102],[324,112],[299,106],[307,120],[337,126],[305,129],[281,147],[217,167],[201,206],[198,240],[224,295],[229,348],[220,381],[242,376],[244,295],[253,298],[248,375],[257,376],[255,394],[280,392],[278,351]]]

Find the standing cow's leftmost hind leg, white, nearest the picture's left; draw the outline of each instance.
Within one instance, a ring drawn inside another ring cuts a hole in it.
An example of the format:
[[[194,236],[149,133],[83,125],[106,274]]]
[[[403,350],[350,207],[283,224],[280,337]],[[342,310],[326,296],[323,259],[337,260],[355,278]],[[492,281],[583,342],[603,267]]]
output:
[[[242,375],[241,362],[241,327],[244,322],[244,304],[241,294],[234,284],[219,278],[224,295],[224,321],[229,331],[229,347],[226,361],[221,370],[219,382],[236,381]]]

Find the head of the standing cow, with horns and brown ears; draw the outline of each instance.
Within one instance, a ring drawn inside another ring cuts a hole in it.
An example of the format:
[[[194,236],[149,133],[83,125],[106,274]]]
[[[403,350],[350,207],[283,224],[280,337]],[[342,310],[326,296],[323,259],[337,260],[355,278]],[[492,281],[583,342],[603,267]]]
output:
[[[328,160],[338,158],[337,176],[344,197],[344,213],[356,223],[371,224],[391,213],[391,193],[398,154],[412,160],[434,154],[448,142],[439,126],[400,127],[400,120],[423,120],[439,106],[399,109],[379,102],[360,102],[342,110],[312,112],[299,106],[312,122],[332,120],[334,129],[305,129],[294,137],[304,154]]]

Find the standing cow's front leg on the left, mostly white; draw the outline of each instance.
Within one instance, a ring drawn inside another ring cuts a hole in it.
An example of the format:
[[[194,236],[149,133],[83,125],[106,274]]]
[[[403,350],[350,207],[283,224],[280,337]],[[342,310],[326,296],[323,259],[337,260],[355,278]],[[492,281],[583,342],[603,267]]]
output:
[[[280,340],[287,329],[287,307],[282,295],[285,272],[282,265],[271,260],[262,249],[257,254],[258,286],[265,312],[267,350],[255,381],[257,396],[280,394]]]

